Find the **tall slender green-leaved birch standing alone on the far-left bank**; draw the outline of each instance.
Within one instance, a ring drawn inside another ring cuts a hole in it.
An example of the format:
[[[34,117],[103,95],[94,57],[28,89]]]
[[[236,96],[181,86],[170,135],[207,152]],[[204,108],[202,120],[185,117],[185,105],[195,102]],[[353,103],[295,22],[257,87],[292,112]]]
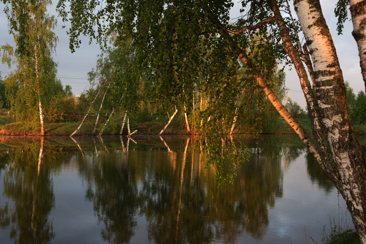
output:
[[[58,38],[52,32],[56,26],[55,16],[46,14],[49,4],[51,1],[48,0],[24,3],[10,1],[5,12],[17,47],[14,51],[8,44],[1,46],[2,62],[9,68],[11,64],[17,65],[14,74],[4,80],[17,119],[31,121],[34,127],[40,125],[42,136],[45,135],[42,104],[49,102],[53,95],[52,87],[57,84],[57,64],[51,55]],[[22,35],[24,31],[27,35]]]

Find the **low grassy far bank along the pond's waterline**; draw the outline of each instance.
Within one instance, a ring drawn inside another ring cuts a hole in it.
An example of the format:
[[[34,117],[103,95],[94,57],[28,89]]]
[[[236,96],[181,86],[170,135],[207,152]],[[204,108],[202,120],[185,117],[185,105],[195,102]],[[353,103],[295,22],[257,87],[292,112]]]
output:
[[[39,136],[40,130],[33,130],[30,125],[22,122],[14,122],[14,119],[9,116],[0,118],[0,135],[3,136]],[[4,119],[6,118],[6,119]],[[310,118],[299,118],[298,122],[305,129],[305,131],[311,134],[311,121]],[[122,122],[121,122],[122,123]],[[165,126],[167,121],[152,120],[146,123],[131,122],[130,129],[131,132],[137,130],[136,134],[139,135],[154,135],[159,134],[161,129]],[[72,123],[45,123],[46,136],[70,136],[78,126],[80,122]],[[111,126],[107,126],[104,130],[103,135],[118,135],[121,128],[120,123],[115,123]],[[80,128],[75,136],[93,136],[94,125],[90,122],[86,122]],[[356,134],[366,134],[366,125],[355,125],[354,130]],[[98,131],[98,130],[97,130]],[[127,124],[124,126],[123,133],[127,135]],[[163,134],[170,135],[189,135],[189,134],[199,134],[188,133],[184,127],[184,123],[179,119],[173,120],[171,124],[167,127]],[[295,134],[295,131],[288,125],[288,123],[280,119],[277,121],[275,130],[273,131],[263,131],[262,134]]]

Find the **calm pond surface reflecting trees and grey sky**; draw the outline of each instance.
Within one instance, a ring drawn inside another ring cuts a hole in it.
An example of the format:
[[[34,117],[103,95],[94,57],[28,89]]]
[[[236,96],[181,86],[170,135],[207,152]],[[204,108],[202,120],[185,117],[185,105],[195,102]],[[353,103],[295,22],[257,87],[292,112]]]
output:
[[[352,227],[296,137],[248,141],[220,188],[197,140],[122,140],[46,138],[39,160],[40,138],[0,137],[0,243],[319,243],[329,220]]]

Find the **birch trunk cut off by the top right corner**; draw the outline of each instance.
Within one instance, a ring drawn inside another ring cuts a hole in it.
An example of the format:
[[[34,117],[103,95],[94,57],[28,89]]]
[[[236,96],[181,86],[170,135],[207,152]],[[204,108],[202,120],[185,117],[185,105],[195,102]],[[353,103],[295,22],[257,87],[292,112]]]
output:
[[[363,82],[366,87],[366,1],[350,0],[352,35],[356,40]]]

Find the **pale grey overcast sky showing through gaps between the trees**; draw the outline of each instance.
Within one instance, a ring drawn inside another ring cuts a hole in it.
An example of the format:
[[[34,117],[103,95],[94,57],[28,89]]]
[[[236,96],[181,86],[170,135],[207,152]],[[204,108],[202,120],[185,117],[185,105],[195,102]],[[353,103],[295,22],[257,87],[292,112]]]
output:
[[[230,11],[230,16],[235,18],[239,16],[239,9],[241,4],[239,0],[234,0],[235,5]],[[56,1],[54,6],[56,5]],[[361,68],[359,66],[359,57],[356,41],[352,37],[353,30],[352,22],[349,19],[346,20],[344,25],[343,35],[338,36],[336,31],[336,18],[334,16],[335,0],[321,0],[323,14],[328,24],[330,34],[332,35],[341,69],[343,71],[344,80],[350,82],[351,87],[354,89],[355,94],[358,91],[365,90],[365,86],[361,76]],[[292,4],[292,2],[291,2]],[[291,5],[290,4],[290,5]],[[8,34],[8,21],[2,11],[4,5],[0,3],[0,45],[4,45],[8,42],[10,45],[14,45],[14,39],[12,35]],[[49,13],[57,16],[55,9],[49,8]],[[292,14],[296,16],[294,9],[292,8]],[[66,29],[62,29],[63,23],[58,18],[58,25],[53,30],[59,37],[59,43],[57,43],[56,55],[54,60],[58,63],[57,76],[61,79],[62,84],[71,85],[72,92],[75,95],[80,94],[85,88],[89,87],[89,82],[86,79],[87,72],[91,68],[95,67],[96,56],[100,54],[100,47],[94,42],[88,45],[88,39],[82,39],[82,45],[79,49],[76,49],[75,53],[71,53],[69,49],[69,38],[66,34]],[[68,24],[66,23],[66,27]],[[13,69],[15,66],[12,67]],[[0,64],[1,76],[4,77],[10,70],[7,65]],[[299,78],[294,69],[285,69],[286,87],[290,89],[290,98],[298,102],[303,108],[306,106],[305,98],[301,91]]]

